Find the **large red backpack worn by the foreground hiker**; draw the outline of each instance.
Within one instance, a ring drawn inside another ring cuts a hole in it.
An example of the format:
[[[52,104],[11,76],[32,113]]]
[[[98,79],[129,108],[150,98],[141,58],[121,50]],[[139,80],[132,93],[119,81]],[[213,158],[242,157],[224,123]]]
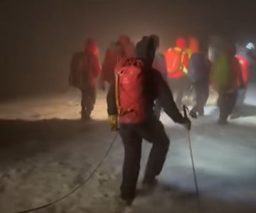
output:
[[[146,120],[143,62],[123,58],[115,67],[115,88],[119,122],[139,124]]]

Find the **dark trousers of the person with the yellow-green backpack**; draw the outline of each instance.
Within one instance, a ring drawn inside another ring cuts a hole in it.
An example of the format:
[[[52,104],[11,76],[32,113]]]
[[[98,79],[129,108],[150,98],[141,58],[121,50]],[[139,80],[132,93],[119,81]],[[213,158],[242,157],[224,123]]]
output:
[[[218,107],[220,108],[220,120],[227,120],[236,105],[237,91],[226,93],[219,92]]]

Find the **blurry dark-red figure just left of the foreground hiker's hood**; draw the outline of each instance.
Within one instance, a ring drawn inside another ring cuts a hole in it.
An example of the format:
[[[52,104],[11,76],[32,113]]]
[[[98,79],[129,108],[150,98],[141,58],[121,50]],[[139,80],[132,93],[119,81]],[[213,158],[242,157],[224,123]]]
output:
[[[115,65],[123,57],[135,56],[135,45],[131,42],[129,36],[121,35],[117,42],[110,44],[106,50],[102,63],[102,72],[100,75],[100,87],[105,90],[105,83],[110,84],[114,78]]]

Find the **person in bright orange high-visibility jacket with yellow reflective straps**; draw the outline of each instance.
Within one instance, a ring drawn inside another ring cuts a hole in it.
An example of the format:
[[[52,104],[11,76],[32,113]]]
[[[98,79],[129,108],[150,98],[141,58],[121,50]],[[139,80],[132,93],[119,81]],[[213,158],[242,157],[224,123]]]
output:
[[[186,40],[177,38],[176,46],[164,52],[166,59],[168,85],[174,95],[174,101],[179,110],[182,110],[182,99],[187,87],[187,69],[189,56],[185,51]]]

